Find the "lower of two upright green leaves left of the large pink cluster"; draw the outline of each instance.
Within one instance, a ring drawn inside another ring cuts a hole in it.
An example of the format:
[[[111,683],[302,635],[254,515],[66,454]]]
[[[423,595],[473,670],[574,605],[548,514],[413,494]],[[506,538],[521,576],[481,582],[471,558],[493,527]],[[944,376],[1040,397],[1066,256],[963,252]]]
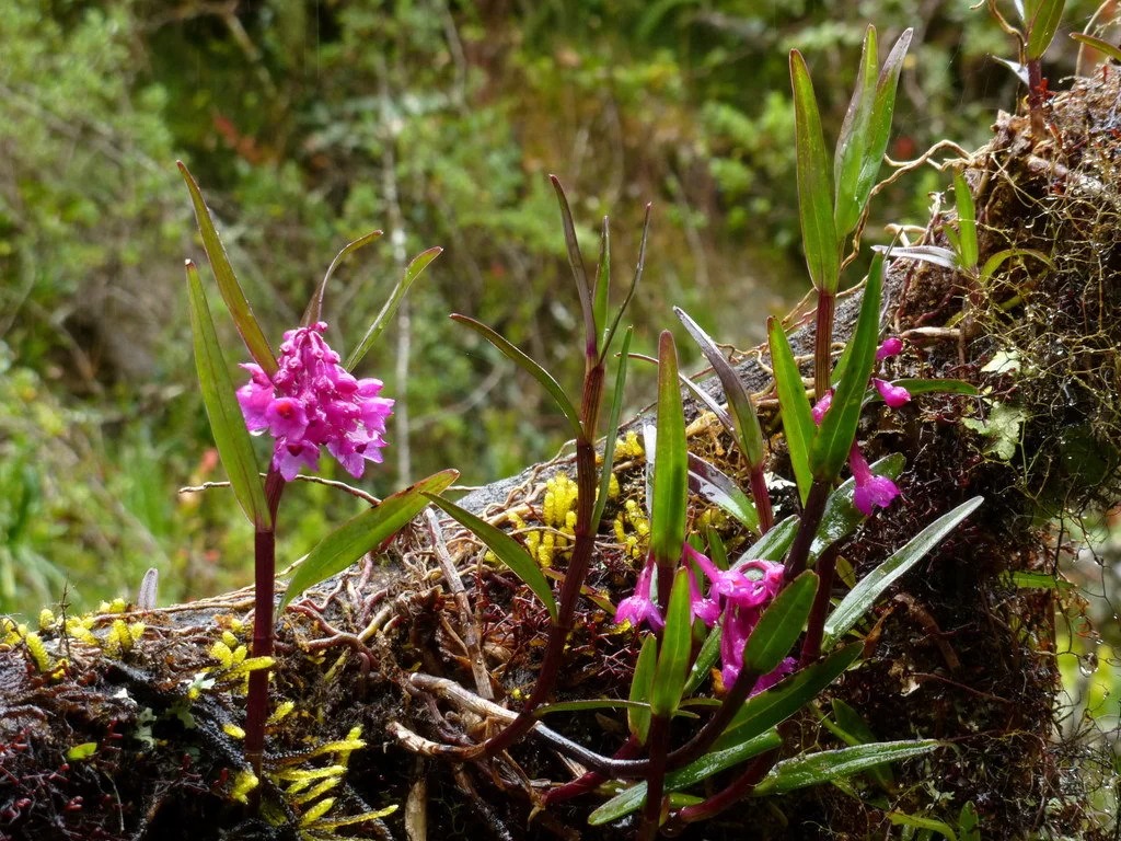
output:
[[[238,405],[238,396],[230,379],[230,369],[222,355],[214,321],[211,318],[206,294],[203,292],[198,270],[187,260],[187,299],[191,304],[191,332],[195,345],[195,368],[198,385],[210,418],[214,445],[222,459],[222,466],[230,479],[233,496],[258,530],[272,528],[272,517],[265,500],[265,486],[257,472],[253,442],[245,428],[245,418]]]

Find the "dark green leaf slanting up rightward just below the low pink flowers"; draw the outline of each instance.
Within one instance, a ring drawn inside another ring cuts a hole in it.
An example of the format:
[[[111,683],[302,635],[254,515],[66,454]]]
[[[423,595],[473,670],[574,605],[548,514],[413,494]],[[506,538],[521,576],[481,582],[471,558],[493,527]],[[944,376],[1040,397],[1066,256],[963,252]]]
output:
[[[824,659],[798,669],[769,690],[752,695],[735,713],[735,718],[716,739],[712,749],[721,750],[786,721],[844,674],[845,669],[860,657],[863,648],[862,643],[852,643],[839,648]]]

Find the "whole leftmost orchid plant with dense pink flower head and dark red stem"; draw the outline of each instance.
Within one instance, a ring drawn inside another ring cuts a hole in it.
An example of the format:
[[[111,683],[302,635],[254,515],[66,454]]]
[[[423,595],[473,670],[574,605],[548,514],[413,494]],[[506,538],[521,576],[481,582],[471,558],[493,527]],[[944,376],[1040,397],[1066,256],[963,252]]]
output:
[[[203,401],[230,487],[254,530],[252,656],[271,665],[280,497],[300,468],[318,468],[321,446],[355,478],[362,475],[367,461],[381,461],[380,450],[386,445],[385,420],[392,410],[392,401],[380,396],[380,380],[356,379],[351,371],[373,345],[409,286],[441,249],[429,249],[413,260],[343,366],[340,355],[323,338],[326,330],[321,321],[324,293],[339,264],[381,232],[374,231],[351,242],[331,264],[308,303],[302,324],[285,333],[277,355],[253,316],[198,185],[182,163],[179,170],[191,193],[219,290],[252,359],[242,366],[249,372],[249,382],[235,390],[202,280],[195,265],[187,260],[191,326]],[[267,431],[274,437],[263,479],[250,440],[251,431]],[[428,505],[426,492],[438,493],[457,475],[454,470],[435,473],[372,505],[327,534],[297,567],[278,610],[302,591],[344,570],[391,537]],[[265,760],[268,690],[269,668],[251,672],[244,743],[245,759],[254,778],[260,776]],[[253,779],[249,788],[256,786]]]

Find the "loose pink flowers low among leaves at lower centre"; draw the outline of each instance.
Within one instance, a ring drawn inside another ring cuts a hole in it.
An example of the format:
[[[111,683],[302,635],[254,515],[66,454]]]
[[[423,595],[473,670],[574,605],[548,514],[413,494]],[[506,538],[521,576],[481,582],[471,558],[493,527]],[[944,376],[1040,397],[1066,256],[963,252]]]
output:
[[[720,655],[721,677],[724,685],[735,682],[743,668],[743,648],[754,630],[763,609],[782,589],[782,564],[771,561],[750,560],[736,564],[731,570],[721,570],[708,557],[685,544],[682,560],[688,564],[689,610],[693,619],[700,619],[706,627],[721,623]],[[694,565],[708,579],[705,595],[697,584]],[[639,573],[634,594],[619,602],[615,610],[617,622],[630,622],[638,627],[646,622],[652,630],[661,630],[665,619],[655,602],[651,589],[655,562],[651,554]],[[763,675],[752,690],[752,694],[775,685],[794,671],[796,663],[788,657],[770,674]]]

